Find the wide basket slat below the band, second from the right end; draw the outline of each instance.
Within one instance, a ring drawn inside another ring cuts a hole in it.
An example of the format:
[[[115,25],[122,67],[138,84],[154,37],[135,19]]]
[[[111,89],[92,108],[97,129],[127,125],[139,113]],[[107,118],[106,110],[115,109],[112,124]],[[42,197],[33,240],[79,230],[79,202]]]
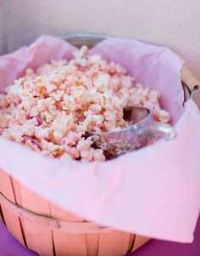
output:
[[[125,255],[129,247],[130,234],[122,231],[112,231],[101,234],[99,238],[98,256]]]

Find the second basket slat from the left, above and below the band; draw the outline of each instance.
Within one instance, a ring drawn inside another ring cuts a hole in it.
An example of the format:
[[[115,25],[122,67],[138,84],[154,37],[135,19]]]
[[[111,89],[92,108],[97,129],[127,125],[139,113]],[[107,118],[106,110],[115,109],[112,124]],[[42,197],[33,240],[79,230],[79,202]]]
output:
[[[50,215],[49,204],[46,199],[36,195],[27,187],[20,184],[20,196],[22,207],[36,213]],[[53,256],[52,231],[42,225],[33,224],[24,219],[25,240],[27,247],[42,256]]]

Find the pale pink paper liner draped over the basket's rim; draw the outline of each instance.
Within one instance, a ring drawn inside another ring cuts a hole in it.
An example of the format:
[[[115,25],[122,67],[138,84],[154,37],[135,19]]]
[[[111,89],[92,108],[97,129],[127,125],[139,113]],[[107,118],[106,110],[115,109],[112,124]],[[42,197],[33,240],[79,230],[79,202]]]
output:
[[[70,59],[75,49],[61,39],[42,36],[30,47],[3,55],[0,90],[23,75],[26,67]],[[50,159],[0,137],[0,168],[51,202],[99,225],[192,242],[200,209],[200,116],[192,100],[182,105],[184,61],[169,48],[116,37],[98,43],[89,54],[118,62],[138,82],[158,89],[177,137],[108,162]]]

